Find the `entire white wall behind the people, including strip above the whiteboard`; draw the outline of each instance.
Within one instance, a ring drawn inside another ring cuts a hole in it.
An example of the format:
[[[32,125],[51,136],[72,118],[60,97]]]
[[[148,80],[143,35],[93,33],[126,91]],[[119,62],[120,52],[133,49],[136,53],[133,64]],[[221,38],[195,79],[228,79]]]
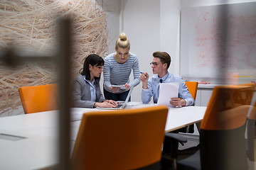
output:
[[[256,0],[251,0],[256,1]],[[247,0],[107,0],[113,5],[109,10],[109,52],[114,52],[114,42],[120,32],[127,34],[131,42],[130,52],[139,57],[142,72],[152,76],[149,63],[152,53],[166,51],[171,55],[169,72],[179,74],[180,63],[180,10],[194,6],[212,6],[250,2]],[[117,7],[119,7],[117,9]],[[120,21],[119,21],[120,19]],[[118,27],[118,28],[117,28]],[[131,77],[133,79],[133,77]],[[133,91],[132,101],[141,101],[142,84]]]

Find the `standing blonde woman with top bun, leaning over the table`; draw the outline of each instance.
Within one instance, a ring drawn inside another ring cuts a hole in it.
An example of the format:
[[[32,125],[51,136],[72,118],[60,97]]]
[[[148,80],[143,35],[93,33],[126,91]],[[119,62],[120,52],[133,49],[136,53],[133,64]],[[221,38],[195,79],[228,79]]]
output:
[[[137,86],[140,82],[139,60],[136,55],[129,52],[130,42],[125,33],[119,34],[115,50],[116,52],[105,57],[104,96],[113,101],[125,101],[130,87]],[[132,71],[134,79],[130,82],[129,76]],[[122,88],[113,85],[121,85]]]

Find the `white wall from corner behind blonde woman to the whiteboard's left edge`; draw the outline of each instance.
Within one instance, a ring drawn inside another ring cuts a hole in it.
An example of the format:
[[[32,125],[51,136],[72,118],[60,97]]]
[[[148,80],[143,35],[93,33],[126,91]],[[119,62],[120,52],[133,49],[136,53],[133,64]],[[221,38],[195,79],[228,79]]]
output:
[[[142,72],[152,76],[149,63],[153,52],[166,51],[173,61],[169,72],[178,74],[179,8],[178,0],[123,1],[123,31],[131,42],[130,52],[139,57]],[[132,101],[141,101],[141,91],[139,84],[132,93]]]

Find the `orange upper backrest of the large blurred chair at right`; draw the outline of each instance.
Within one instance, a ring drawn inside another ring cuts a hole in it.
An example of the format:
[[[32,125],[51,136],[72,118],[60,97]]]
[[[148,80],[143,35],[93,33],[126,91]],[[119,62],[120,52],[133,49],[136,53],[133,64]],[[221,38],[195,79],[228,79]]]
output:
[[[228,130],[243,125],[256,84],[215,86],[201,123],[204,130]]]

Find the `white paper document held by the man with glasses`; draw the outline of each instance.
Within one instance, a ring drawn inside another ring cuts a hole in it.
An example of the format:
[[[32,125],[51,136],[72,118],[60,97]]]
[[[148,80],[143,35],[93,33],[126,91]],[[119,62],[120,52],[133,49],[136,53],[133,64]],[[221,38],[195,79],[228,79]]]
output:
[[[162,83],[159,85],[159,99],[157,101],[158,105],[165,105],[170,107],[169,101],[171,98],[178,97],[178,82],[174,83]]]

